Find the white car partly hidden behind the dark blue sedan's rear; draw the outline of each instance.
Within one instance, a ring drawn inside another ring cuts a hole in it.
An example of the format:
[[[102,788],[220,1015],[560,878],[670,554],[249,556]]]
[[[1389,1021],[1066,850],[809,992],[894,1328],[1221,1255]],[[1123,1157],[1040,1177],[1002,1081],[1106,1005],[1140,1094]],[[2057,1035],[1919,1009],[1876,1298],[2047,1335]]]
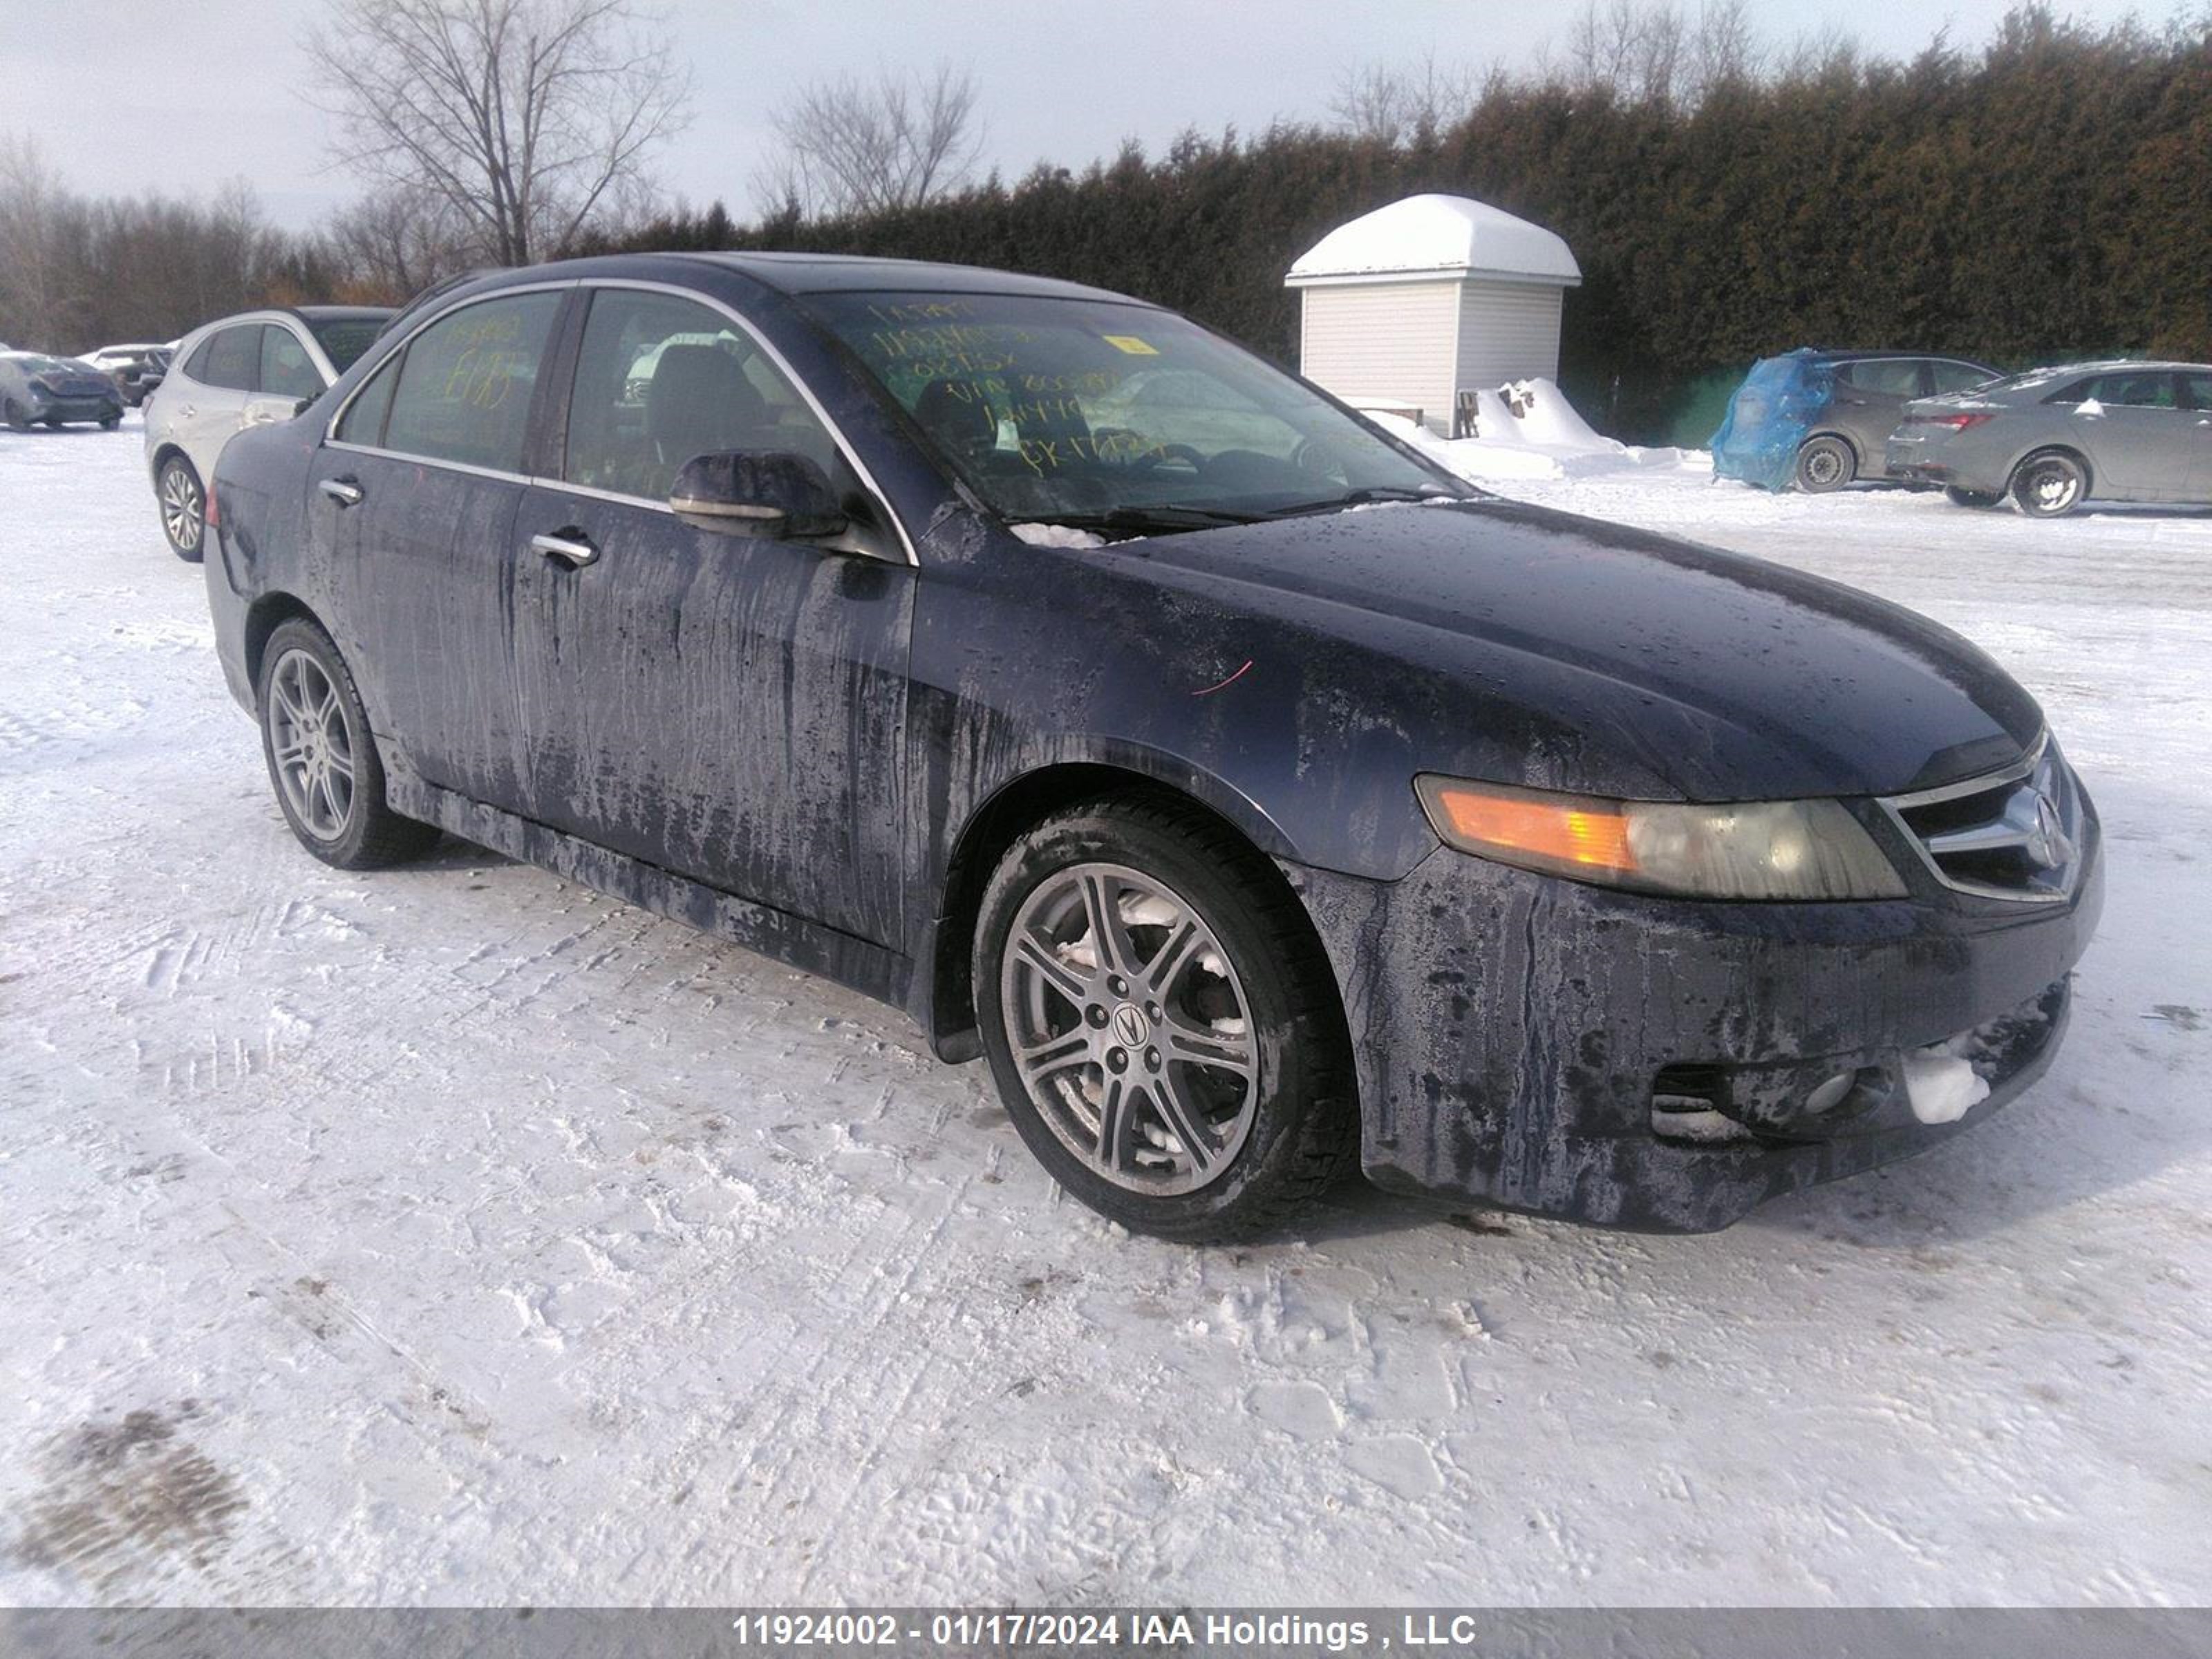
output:
[[[179,560],[199,557],[206,480],[223,445],[246,427],[290,420],[389,319],[378,305],[296,305],[223,316],[177,343],[146,403],[146,469]]]

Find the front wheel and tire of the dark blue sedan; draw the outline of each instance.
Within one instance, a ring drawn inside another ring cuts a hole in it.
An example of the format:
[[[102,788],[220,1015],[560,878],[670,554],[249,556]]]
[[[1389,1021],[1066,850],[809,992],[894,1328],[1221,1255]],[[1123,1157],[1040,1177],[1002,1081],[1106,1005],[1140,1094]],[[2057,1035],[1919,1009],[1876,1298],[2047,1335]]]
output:
[[[1130,1232],[1270,1232],[1352,1168],[1352,1044],[1305,911],[1181,801],[1110,796],[1022,836],[984,891],[973,973],[1013,1126]]]

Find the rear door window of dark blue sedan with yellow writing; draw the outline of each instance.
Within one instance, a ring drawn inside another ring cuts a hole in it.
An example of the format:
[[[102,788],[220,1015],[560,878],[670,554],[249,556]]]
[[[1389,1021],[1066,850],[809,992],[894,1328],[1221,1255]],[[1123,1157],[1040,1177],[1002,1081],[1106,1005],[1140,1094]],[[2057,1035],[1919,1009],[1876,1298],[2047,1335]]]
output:
[[[400,361],[383,447],[520,473],[560,299],[487,299],[416,334]]]

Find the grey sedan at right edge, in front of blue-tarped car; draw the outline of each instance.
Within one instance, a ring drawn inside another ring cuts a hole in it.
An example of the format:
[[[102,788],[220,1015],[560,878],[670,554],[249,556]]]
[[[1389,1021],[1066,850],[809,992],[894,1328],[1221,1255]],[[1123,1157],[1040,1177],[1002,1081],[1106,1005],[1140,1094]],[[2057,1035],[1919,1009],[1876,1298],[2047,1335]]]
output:
[[[2212,504],[2212,367],[2073,363],[1905,405],[1889,469],[1960,507],[2031,518],[2081,502]]]

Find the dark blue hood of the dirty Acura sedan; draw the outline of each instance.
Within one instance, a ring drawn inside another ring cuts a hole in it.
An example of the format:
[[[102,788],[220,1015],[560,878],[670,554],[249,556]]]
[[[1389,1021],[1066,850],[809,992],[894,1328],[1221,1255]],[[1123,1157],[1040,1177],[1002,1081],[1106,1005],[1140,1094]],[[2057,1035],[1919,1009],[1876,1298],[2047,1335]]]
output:
[[[2002,668],[1902,606],[1537,507],[1407,504],[1110,553],[1292,624],[1254,644],[1307,650],[1310,699],[1389,710],[1420,770],[1630,799],[1867,796],[1991,770],[2042,730]]]

